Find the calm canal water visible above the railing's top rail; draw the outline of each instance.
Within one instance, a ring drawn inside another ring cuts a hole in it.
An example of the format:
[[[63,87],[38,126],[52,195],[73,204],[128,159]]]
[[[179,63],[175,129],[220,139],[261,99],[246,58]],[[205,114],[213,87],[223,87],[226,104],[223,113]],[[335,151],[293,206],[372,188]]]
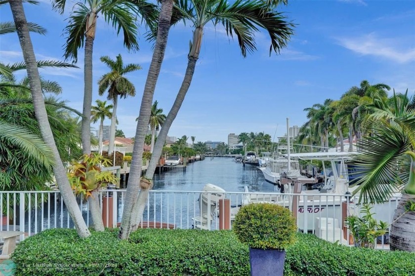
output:
[[[243,166],[236,163],[234,158],[206,158],[187,165],[183,168],[173,168],[154,176],[154,190],[164,191],[202,191],[211,183],[221,187],[226,192],[244,192],[244,186],[249,191],[273,192],[274,185],[265,181],[262,172],[251,165]]]

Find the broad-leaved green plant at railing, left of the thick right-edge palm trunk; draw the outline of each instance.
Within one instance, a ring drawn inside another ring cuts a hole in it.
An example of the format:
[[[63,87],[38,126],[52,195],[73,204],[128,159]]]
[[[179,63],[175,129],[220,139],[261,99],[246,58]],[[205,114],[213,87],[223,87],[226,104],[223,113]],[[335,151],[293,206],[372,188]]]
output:
[[[361,217],[353,215],[346,218],[346,225],[352,234],[355,246],[369,247],[375,246],[376,238],[387,233],[388,224],[373,218],[374,213],[371,212],[373,206],[363,204],[360,211]]]

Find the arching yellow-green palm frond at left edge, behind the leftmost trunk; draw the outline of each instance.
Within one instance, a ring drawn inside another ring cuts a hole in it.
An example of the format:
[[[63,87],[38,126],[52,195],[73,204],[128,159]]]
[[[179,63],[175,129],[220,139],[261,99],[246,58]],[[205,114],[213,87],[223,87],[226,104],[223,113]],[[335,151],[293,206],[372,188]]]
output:
[[[23,127],[0,120],[0,138],[22,148],[29,156],[37,159],[46,167],[54,164],[52,150],[42,138]]]

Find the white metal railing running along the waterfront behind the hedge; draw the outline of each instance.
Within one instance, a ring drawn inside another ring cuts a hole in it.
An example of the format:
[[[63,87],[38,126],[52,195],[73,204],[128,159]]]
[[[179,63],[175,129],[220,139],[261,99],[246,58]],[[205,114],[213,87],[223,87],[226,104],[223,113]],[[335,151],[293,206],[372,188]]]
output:
[[[205,202],[212,202],[210,206],[199,200],[201,194],[207,199]],[[103,202],[104,225],[117,227],[122,219],[125,190],[102,190],[99,197]],[[229,199],[229,215],[220,214],[218,197]],[[150,191],[141,227],[218,230],[220,219],[222,225],[232,225],[240,206],[251,202],[271,202],[294,210],[300,231],[348,244],[349,233],[344,227],[344,217],[360,213],[360,205],[355,204],[358,198],[348,199],[344,195],[332,194]],[[374,205],[375,218],[390,224],[399,199],[400,196],[396,196]],[[87,226],[92,226],[88,202],[78,197],[78,204]],[[203,210],[202,214],[200,210]],[[45,229],[74,227],[59,191],[0,192],[0,218],[0,231],[22,231],[25,235],[20,239]],[[226,223],[225,219],[228,220]],[[381,248],[386,241],[381,237]]]

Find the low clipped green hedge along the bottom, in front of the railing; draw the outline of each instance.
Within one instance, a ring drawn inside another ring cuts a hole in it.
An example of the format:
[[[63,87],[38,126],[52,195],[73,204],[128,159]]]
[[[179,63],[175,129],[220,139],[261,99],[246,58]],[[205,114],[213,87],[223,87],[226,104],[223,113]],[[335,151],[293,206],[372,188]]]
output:
[[[12,260],[20,275],[249,276],[248,247],[230,231],[155,230],[117,239],[117,230],[53,229],[21,242]],[[298,234],[287,250],[288,276],[414,276],[415,253],[346,247]]]

